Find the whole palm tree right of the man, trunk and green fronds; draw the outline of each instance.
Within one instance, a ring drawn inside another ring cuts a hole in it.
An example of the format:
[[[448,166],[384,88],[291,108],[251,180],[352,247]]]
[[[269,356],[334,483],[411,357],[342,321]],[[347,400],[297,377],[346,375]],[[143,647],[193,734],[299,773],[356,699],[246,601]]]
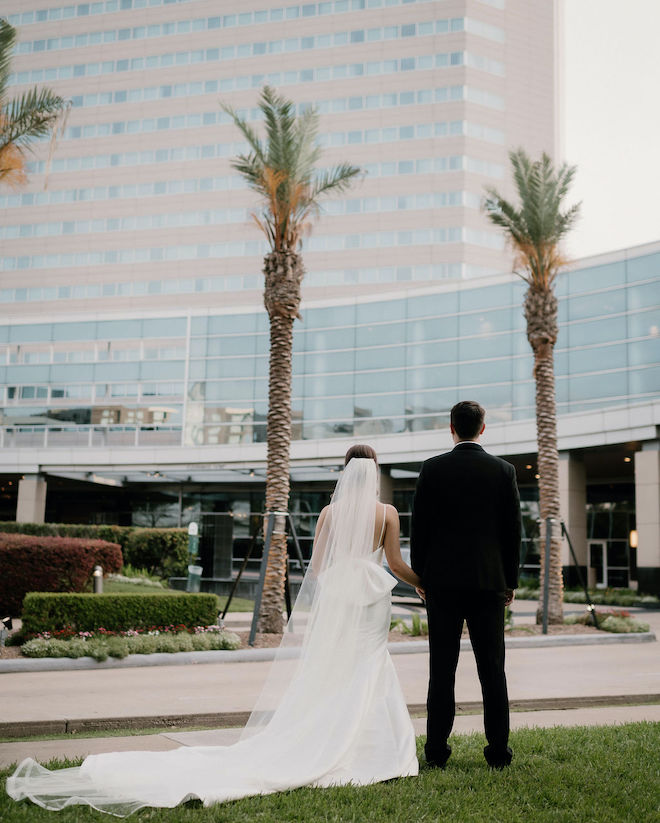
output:
[[[554,282],[564,264],[559,241],[575,223],[579,204],[563,210],[564,198],[575,176],[575,166],[555,169],[543,154],[532,161],[523,149],[510,152],[513,179],[520,201],[512,205],[495,189],[486,190],[489,219],[505,234],[515,252],[514,271],[527,283],[523,304],[527,339],[534,352],[536,381],[536,437],[538,447],[539,505],[542,523],[547,517],[560,522],[559,453],[555,401],[554,346],[557,342],[557,297]],[[542,545],[545,531],[542,527]],[[550,544],[548,622],[563,621],[561,532],[552,530]],[[541,588],[544,564],[541,564]],[[537,614],[540,622],[540,611]]]

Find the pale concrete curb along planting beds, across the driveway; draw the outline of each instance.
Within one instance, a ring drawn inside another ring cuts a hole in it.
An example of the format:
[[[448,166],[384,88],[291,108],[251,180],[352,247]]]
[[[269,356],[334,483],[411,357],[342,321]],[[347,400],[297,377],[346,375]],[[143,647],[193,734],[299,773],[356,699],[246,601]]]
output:
[[[534,649],[552,646],[601,646],[612,643],[652,643],[653,632],[635,634],[565,634],[508,637],[511,649]],[[424,654],[428,640],[409,640],[388,643],[390,654]],[[461,650],[469,650],[470,641],[461,640]],[[176,652],[174,654],[132,654],[123,660],[108,658],[99,663],[92,657],[36,657],[0,660],[0,674],[18,672],[74,671],[76,669],[131,669],[145,666],[187,666],[200,663],[256,663],[273,660],[277,649],[237,649],[236,651]],[[293,650],[290,650],[293,651]]]

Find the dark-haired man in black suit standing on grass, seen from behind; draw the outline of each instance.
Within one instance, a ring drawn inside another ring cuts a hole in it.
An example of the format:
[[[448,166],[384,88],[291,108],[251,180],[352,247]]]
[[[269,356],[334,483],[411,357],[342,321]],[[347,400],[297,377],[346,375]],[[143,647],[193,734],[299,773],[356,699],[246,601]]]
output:
[[[426,460],[417,481],[411,561],[429,618],[426,760],[444,767],[454,723],[454,678],[463,621],[477,661],[489,766],[508,766],[509,701],[504,607],[518,585],[520,498],[514,467],[479,445],[485,412],[470,400],[451,410],[454,448]]]

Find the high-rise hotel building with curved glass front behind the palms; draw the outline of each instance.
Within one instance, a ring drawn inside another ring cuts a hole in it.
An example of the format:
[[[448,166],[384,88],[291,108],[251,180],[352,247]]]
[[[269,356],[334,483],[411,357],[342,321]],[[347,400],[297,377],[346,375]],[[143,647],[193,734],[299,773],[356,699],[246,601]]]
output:
[[[510,149],[558,155],[559,5],[4,0],[12,92],[49,86],[73,107],[50,164],[44,142],[29,185],[0,191],[0,516],[17,499],[22,520],[262,505],[265,246],[220,102],[259,129],[264,84],[318,109],[324,165],[364,169],[304,243],[293,507],[318,510],[346,445],[368,440],[405,509],[470,396],[532,512],[523,284],[480,202],[511,191]],[[636,579],[640,484],[641,565],[660,576],[658,259],[583,261],[558,285],[565,502],[585,565],[588,537],[619,541],[616,563],[601,556],[610,582]],[[605,504],[625,511],[621,534],[603,536]]]

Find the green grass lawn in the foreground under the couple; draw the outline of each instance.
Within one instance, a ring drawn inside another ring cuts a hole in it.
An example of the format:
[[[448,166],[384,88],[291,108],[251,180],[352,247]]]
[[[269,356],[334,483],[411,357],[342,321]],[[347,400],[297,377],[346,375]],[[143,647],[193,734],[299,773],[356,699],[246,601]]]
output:
[[[419,750],[423,738],[418,739]],[[136,820],[163,823],[654,823],[660,820],[660,724],[523,729],[511,735],[512,766],[486,768],[482,735],[457,736],[444,771],[374,786],[298,789],[204,809],[197,801],[177,809],[143,809]],[[79,762],[79,761],[75,761]],[[52,767],[74,765],[54,761]],[[4,793],[4,823],[107,819],[74,807],[57,813]]]

